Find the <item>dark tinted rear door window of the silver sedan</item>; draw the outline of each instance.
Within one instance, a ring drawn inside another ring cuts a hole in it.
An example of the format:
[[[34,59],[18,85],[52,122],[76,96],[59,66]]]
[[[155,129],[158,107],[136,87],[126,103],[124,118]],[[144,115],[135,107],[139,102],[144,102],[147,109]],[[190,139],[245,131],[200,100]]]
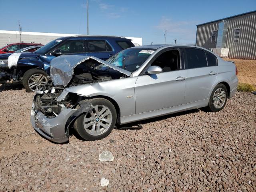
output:
[[[205,52],[200,49],[185,48],[187,55],[187,68],[207,67]]]

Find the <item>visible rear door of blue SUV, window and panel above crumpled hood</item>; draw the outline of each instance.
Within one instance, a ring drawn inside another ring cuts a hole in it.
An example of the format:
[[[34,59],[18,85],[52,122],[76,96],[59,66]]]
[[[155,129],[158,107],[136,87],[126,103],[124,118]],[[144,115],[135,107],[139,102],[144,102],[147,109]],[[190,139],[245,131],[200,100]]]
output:
[[[88,39],[87,41],[87,53],[88,56],[94,56],[102,60],[107,60],[114,55],[114,50],[110,43],[104,39]]]

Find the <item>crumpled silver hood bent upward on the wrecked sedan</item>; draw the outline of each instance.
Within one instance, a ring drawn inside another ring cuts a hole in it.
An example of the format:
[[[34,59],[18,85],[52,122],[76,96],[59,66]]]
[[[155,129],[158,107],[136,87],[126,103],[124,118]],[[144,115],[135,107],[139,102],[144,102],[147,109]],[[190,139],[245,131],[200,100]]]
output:
[[[94,56],[82,56],[82,55],[61,55],[54,58],[51,61],[50,76],[52,83],[57,86],[61,85],[66,87],[74,74],[74,68],[82,62],[93,59],[99,63],[102,63],[114,70],[117,70],[127,76],[130,76],[132,72],[114,66],[104,60],[96,58]]]

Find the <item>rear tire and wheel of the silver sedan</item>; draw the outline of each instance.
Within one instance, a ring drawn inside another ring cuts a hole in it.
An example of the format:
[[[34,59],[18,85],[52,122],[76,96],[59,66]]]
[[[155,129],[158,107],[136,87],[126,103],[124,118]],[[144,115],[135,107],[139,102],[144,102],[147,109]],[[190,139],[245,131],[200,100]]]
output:
[[[210,112],[218,112],[224,108],[228,100],[228,91],[224,84],[218,84],[210,96],[207,110]],[[218,103],[219,102],[219,103]]]

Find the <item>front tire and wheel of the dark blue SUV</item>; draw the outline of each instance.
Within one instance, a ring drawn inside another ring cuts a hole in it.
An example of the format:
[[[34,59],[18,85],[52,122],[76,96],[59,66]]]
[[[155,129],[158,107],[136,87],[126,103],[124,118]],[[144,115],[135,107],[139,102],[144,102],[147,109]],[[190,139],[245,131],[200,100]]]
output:
[[[40,69],[27,70],[22,78],[26,92],[36,92],[36,90],[40,90],[40,88],[48,82],[47,76],[49,75]]]

